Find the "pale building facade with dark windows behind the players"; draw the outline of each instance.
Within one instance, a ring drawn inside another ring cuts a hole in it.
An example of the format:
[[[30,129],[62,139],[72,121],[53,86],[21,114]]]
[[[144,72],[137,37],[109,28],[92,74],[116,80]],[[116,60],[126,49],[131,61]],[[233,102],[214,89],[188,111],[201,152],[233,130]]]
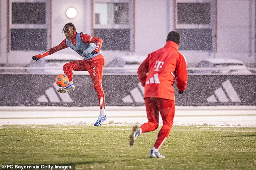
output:
[[[233,58],[254,66],[255,10],[255,0],[1,0],[0,63],[29,63],[65,39],[63,26],[72,22],[78,32],[103,39],[106,62],[146,57],[175,30],[188,65]]]

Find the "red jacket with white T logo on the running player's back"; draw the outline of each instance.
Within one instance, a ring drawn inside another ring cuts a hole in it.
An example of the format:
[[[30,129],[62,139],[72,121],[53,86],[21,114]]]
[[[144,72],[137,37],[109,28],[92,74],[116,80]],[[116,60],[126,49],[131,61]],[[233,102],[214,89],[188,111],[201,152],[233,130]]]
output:
[[[137,73],[142,86],[145,87],[144,98],[175,100],[175,80],[181,92],[187,88],[186,59],[178,52],[178,45],[173,41],[167,41],[163,48],[150,53],[139,66]]]

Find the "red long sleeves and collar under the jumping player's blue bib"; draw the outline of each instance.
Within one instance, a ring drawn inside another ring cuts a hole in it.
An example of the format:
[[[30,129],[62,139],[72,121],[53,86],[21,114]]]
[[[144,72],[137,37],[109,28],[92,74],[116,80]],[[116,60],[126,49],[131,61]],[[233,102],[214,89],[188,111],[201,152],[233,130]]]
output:
[[[72,38],[70,39],[71,43],[73,45],[76,45],[76,31],[74,32]],[[84,43],[95,43],[97,45],[97,47],[93,50],[96,51],[97,53],[99,53],[100,49],[101,49],[101,45],[102,45],[102,39],[97,38],[97,37],[92,37],[88,34],[80,34],[81,40]],[[50,49],[48,49],[48,51],[42,53],[42,54],[38,54],[36,55],[37,58],[42,58],[42,57],[46,57],[47,55],[51,55],[53,53],[56,53],[57,51],[60,51],[62,49],[67,48],[67,44],[66,44],[66,39],[64,39],[63,41],[61,41],[61,43],[55,47],[52,47]]]

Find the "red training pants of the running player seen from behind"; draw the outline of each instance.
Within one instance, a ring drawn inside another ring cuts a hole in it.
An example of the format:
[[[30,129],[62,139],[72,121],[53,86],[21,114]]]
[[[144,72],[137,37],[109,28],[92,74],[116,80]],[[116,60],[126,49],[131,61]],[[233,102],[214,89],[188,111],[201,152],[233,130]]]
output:
[[[157,135],[154,147],[159,149],[170,134],[175,113],[175,101],[163,98],[145,98],[147,119],[149,122],[141,126],[142,133],[154,131],[159,124],[159,113],[163,119],[163,126]]]

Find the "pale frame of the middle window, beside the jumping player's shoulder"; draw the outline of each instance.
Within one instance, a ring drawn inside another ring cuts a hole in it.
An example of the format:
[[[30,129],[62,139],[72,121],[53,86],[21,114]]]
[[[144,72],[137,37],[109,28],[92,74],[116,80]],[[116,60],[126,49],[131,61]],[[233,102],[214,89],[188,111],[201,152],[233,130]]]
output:
[[[129,4],[129,23],[128,24],[113,24],[113,25],[96,25],[95,12],[93,11],[92,18],[92,32],[94,34],[94,29],[129,29],[130,30],[130,49],[128,52],[135,51],[135,39],[134,39],[134,0],[94,0],[94,4],[103,4],[103,3],[128,3]],[[93,4],[93,6],[94,6]],[[100,38],[100,37],[99,37]],[[115,50],[111,50],[115,51]],[[116,50],[120,51],[120,50]],[[125,52],[125,51],[122,51]]]

